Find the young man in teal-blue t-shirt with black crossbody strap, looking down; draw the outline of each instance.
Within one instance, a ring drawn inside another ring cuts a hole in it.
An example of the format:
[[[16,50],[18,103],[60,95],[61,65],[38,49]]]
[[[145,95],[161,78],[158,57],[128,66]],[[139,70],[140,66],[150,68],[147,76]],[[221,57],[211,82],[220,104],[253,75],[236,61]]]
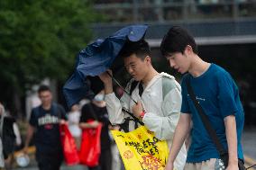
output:
[[[169,60],[170,67],[181,74],[188,72],[182,78],[182,114],[175,130],[166,169],[173,169],[178,150],[190,132],[192,140],[187,152],[185,169],[214,170],[223,166],[215,144],[187,94],[186,81],[188,80],[197,102],[206,112],[218,139],[228,152],[229,160],[226,169],[238,170],[238,159],[243,159],[241,136],[244,113],[233,78],[224,68],[199,58],[194,38],[181,27],[174,26],[169,29],[161,42],[160,49],[163,56]]]

